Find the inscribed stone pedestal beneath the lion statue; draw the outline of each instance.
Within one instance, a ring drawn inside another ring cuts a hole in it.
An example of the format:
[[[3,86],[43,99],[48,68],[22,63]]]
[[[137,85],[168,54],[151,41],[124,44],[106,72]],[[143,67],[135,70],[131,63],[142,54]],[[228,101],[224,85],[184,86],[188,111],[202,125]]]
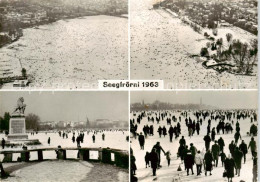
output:
[[[27,140],[25,117],[22,115],[12,116],[9,121],[8,140]]]

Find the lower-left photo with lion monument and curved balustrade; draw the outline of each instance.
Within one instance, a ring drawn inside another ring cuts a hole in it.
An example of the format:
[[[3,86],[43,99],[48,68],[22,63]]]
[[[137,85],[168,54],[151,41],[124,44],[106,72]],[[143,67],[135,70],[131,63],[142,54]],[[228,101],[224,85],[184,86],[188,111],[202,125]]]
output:
[[[0,181],[129,181],[128,92],[0,92]]]

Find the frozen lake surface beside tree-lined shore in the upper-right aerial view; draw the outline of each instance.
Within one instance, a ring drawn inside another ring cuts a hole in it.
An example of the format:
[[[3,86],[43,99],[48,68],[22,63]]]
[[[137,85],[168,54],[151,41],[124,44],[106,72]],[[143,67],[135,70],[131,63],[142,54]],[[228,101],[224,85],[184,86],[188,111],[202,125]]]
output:
[[[239,76],[205,69],[191,58],[209,42],[202,34],[163,9],[151,9],[153,0],[130,1],[131,79],[164,80],[168,89],[257,88],[256,76]],[[219,29],[217,38],[249,42],[256,36],[236,27]],[[224,42],[225,44],[225,42]]]

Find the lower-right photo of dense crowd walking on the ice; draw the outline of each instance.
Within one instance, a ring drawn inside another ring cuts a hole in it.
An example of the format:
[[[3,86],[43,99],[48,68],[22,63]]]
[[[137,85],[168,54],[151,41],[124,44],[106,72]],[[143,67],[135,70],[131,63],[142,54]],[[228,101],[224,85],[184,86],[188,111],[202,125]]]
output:
[[[131,181],[258,181],[257,91],[131,93]]]

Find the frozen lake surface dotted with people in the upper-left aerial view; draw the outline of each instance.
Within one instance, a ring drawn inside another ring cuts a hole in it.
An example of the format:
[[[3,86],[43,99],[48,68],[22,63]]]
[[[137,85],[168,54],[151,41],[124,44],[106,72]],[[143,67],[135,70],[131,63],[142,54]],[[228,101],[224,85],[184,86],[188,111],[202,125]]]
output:
[[[24,67],[35,79],[31,87],[95,88],[100,79],[128,77],[127,18],[86,16],[23,33],[0,49],[0,65],[13,75],[21,75]]]

